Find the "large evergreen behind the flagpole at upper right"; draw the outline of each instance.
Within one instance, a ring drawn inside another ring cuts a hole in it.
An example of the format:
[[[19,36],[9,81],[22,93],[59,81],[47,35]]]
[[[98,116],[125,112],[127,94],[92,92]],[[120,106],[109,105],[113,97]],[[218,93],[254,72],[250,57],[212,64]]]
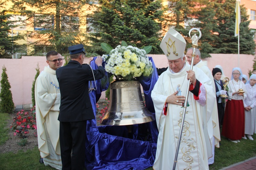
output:
[[[238,53],[238,37],[234,36],[235,7],[236,0],[201,0],[199,10],[193,12],[197,21],[192,22],[187,30],[191,27],[200,28],[202,37],[198,45],[202,58],[210,57],[209,53]],[[250,20],[248,20],[246,9],[241,6],[240,10],[240,54],[253,54],[254,33],[248,27]]]

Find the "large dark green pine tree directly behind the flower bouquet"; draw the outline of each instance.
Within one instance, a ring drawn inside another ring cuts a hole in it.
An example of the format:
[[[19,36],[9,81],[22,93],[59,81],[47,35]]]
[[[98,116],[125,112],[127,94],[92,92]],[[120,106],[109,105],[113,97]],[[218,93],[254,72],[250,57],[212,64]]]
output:
[[[101,43],[116,47],[124,40],[138,48],[152,46],[152,53],[161,53],[160,31],[163,11],[159,0],[101,0],[89,16],[90,40],[98,54]]]

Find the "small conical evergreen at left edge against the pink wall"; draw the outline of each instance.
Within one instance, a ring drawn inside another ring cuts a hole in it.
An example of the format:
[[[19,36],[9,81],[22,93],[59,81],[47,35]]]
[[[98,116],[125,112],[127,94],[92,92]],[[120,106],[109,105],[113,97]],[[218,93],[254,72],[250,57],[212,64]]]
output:
[[[2,79],[1,79],[1,92],[0,92],[0,110],[4,113],[12,113],[14,109],[14,103],[12,99],[12,92],[10,90],[11,85],[8,81],[8,76],[6,74],[6,67],[2,68]]]

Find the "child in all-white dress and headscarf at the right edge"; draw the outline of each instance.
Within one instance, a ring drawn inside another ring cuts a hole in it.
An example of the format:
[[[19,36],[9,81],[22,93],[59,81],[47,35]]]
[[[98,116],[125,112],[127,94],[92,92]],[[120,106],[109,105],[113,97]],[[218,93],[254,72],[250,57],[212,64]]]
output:
[[[256,122],[255,122],[255,114],[256,114],[256,74],[252,74],[250,79],[250,83],[245,84],[245,88],[248,92],[246,99],[244,99],[244,118],[245,118],[245,129],[244,133],[250,140],[253,140],[253,133],[256,132]],[[246,137],[244,137],[246,139]]]

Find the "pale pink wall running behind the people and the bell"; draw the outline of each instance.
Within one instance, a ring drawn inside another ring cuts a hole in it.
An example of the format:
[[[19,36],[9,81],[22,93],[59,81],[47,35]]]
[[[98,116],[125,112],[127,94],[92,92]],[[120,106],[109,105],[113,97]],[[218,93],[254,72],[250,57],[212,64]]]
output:
[[[238,66],[237,54],[211,54],[211,58],[204,59],[208,62],[210,70],[215,65],[221,65],[224,69],[224,74],[231,77],[233,67]],[[152,56],[156,67],[167,67],[167,58],[165,55]],[[240,68],[243,74],[248,76],[248,70],[252,70],[253,55],[240,54]],[[87,63],[89,58],[85,58],[84,63]],[[46,64],[45,56],[22,56],[21,59],[0,59],[0,74],[2,74],[2,67],[5,65],[8,74],[8,80],[11,84],[11,91],[13,102],[15,105],[31,104],[31,88],[34,80],[37,67],[40,67],[40,72],[44,69]],[[64,64],[64,63],[63,63]],[[105,93],[102,94],[101,99],[105,98]]]

